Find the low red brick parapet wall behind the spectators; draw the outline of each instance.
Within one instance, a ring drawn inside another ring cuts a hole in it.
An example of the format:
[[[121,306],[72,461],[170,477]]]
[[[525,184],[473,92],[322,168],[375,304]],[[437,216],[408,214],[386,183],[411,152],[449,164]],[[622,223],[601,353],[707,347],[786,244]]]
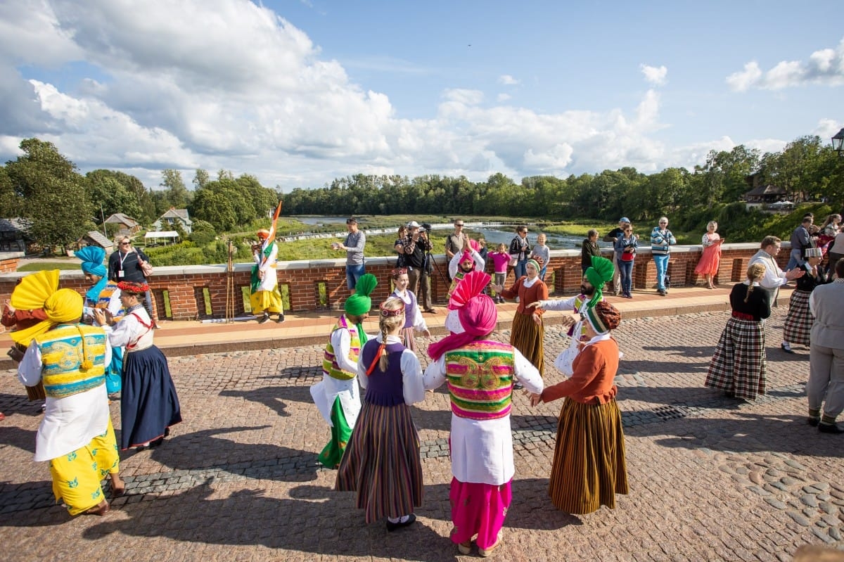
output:
[[[725,244],[722,247],[721,265],[717,283],[732,284],[744,279],[747,264],[759,249],[757,244]],[[611,257],[611,252],[604,252]],[[703,284],[695,274],[695,265],[701,257],[701,246],[677,246],[668,262],[668,273],[673,287]],[[15,258],[17,259],[17,258]],[[778,257],[781,267],[788,261],[787,244]],[[392,257],[375,257],[366,260],[367,273],[374,273],[378,285],[372,295],[373,302],[380,302],[392,292],[390,272],[395,260]],[[2,262],[0,262],[2,264]],[[431,276],[431,295],[436,304],[445,305],[448,293],[446,257],[436,256],[437,268]],[[491,265],[491,264],[490,264]],[[17,266],[17,264],[15,264]],[[234,272],[227,273],[225,266],[156,267],[149,280],[153,291],[156,316],[159,319],[192,320],[207,317],[205,295],[207,289],[210,316],[224,317],[227,295],[234,304],[235,316],[246,310],[242,289],[249,287],[252,264],[235,264]],[[2,270],[0,270],[2,271]],[[573,295],[581,285],[582,273],[579,250],[551,251],[546,280],[554,273],[554,286],[549,290],[555,295]],[[640,249],[634,263],[634,289],[652,289],[656,286],[656,267],[648,248]],[[321,308],[338,308],[349,296],[346,289],[344,260],[317,262],[281,262],[277,270],[279,287],[289,299],[291,311],[317,311]],[[488,269],[492,273],[491,267]],[[441,274],[440,274],[441,273]],[[8,299],[19,277],[27,273],[0,273],[0,300]],[[506,285],[513,283],[508,273]],[[82,272],[62,271],[59,279],[62,288],[84,293],[88,289]],[[325,302],[320,302],[321,287]],[[608,289],[612,288],[609,284]],[[247,293],[248,294],[248,293]]]

